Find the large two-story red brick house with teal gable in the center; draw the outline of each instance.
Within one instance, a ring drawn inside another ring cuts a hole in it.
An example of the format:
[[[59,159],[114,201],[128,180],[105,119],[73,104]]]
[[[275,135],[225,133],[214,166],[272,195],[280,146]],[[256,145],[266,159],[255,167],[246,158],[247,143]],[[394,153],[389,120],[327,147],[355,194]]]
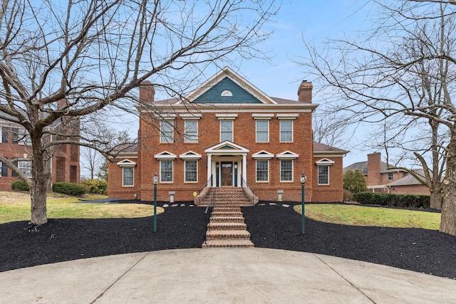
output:
[[[246,184],[259,200],[301,201],[299,176],[305,172],[306,201],[343,200],[343,156],[348,152],[313,141],[312,84],[303,81],[298,101],[271,98],[229,68],[185,97],[155,101],[149,82],[140,100],[138,146],[109,164],[109,196],[190,201],[209,187]],[[208,182],[209,181],[209,182]]]

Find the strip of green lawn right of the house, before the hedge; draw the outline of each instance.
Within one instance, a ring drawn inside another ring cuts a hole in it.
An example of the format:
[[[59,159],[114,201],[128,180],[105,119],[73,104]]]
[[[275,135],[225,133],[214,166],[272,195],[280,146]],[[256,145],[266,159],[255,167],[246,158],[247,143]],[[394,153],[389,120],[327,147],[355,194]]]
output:
[[[294,206],[301,214],[301,205]],[[306,217],[326,223],[353,226],[423,228],[437,230],[440,213],[341,204],[306,204]]]

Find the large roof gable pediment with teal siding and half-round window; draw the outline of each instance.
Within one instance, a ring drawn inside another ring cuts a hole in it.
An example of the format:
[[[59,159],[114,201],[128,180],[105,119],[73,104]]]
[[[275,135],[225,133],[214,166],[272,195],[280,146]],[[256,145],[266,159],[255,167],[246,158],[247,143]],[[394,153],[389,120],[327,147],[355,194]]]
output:
[[[275,100],[227,67],[209,78],[185,99],[192,103],[276,104]]]

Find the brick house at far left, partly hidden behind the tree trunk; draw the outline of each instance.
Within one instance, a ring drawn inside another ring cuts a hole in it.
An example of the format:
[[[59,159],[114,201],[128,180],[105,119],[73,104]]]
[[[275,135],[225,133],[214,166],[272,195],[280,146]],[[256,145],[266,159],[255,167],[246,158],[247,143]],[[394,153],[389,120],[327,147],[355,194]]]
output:
[[[58,122],[56,123],[58,127]],[[31,157],[30,140],[21,125],[0,120],[1,142],[0,155],[6,159]],[[61,145],[51,158],[51,182],[79,182],[79,146]],[[21,160],[16,165],[28,177],[31,177],[31,161]],[[11,190],[11,183],[19,178],[6,164],[0,162],[0,191]]]

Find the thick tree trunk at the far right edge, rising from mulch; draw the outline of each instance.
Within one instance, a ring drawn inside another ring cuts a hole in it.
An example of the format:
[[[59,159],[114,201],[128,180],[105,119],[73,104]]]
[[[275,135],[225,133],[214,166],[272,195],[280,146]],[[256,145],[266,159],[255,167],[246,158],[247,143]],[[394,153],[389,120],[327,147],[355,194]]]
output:
[[[452,132],[447,154],[445,195],[442,204],[440,232],[456,236],[456,134]]]

